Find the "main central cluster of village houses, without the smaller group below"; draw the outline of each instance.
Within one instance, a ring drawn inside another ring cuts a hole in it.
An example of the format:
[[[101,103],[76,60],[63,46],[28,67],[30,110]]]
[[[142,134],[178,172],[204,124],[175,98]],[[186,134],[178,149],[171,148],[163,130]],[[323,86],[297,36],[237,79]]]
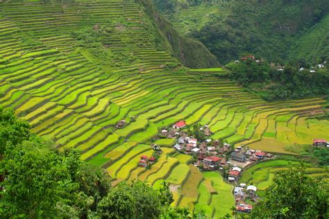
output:
[[[161,131],[161,137],[176,139],[175,150],[196,158],[195,166],[201,170],[222,170],[229,169],[228,180],[236,182],[239,179],[242,169],[237,166],[246,166],[258,160],[270,159],[273,155],[262,150],[249,150],[248,148],[237,147],[232,151],[228,143],[220,140],[208,139],[212,134],[207,125],[200,128],[205,140],[196,139],[182,130],[187,124],[185,121],[178,121],[169,129]]]

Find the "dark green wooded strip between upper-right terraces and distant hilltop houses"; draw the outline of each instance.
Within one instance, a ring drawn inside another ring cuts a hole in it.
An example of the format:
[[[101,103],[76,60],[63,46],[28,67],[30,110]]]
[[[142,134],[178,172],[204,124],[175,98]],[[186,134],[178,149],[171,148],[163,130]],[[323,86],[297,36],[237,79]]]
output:
[[[246,60],[231,62],[230,78],[260,95],[265,100],[298,99],[307,96],[328,95],[329,69],[299,71],[286,67],[283,71],[273,69],[267,62]]]

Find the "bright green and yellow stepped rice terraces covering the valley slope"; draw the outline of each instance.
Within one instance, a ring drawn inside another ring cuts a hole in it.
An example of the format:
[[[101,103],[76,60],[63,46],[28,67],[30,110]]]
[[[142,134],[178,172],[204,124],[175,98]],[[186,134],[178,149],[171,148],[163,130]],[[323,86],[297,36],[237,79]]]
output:
[[[0,105],[60,152],[80,149],[82,160],[106,169],[112,186],[167,182],[173,207],[207,218],[232,213],[234,186],[194,165],[198,154],[174,148],[181,130],[201,125],[211,141],[283,157],[329,139],[325,96],[269,102],[220,77],[225,67],[184,67],[167,41],[158,42],[155,25],[140,1],[3,1]],[[180,121],[174,137],[164,134]],[[259,162],[237,182],[253,182],[262,196],[277,171],[297,163]],[[328,180],[325,168],[309,165],[307,173]]]

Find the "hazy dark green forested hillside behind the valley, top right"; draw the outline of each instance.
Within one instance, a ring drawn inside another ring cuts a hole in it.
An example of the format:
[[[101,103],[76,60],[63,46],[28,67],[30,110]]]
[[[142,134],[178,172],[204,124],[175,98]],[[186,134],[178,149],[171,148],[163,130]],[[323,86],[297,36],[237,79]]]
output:
[[[169,16],[195,5],[194,1],[161,2],[155,1],[158,10]],[[197,1],[197,4],[222,10],[221,16],[208,20],[208,24],[196,19],[202,27],[189,33],[189,37],[203,42],[221,63],[236,60],[245,53],[277,63],[319,64],[328,59],[328,1],[233,0]]]

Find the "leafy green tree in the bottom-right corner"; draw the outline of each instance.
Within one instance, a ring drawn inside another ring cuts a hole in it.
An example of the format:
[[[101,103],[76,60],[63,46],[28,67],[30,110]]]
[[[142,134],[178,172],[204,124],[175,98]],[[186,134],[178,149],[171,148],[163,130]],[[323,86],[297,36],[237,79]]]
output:
[[[253,218],[328,218],[328,182],[307,176],[301,164],[278,173]]]

